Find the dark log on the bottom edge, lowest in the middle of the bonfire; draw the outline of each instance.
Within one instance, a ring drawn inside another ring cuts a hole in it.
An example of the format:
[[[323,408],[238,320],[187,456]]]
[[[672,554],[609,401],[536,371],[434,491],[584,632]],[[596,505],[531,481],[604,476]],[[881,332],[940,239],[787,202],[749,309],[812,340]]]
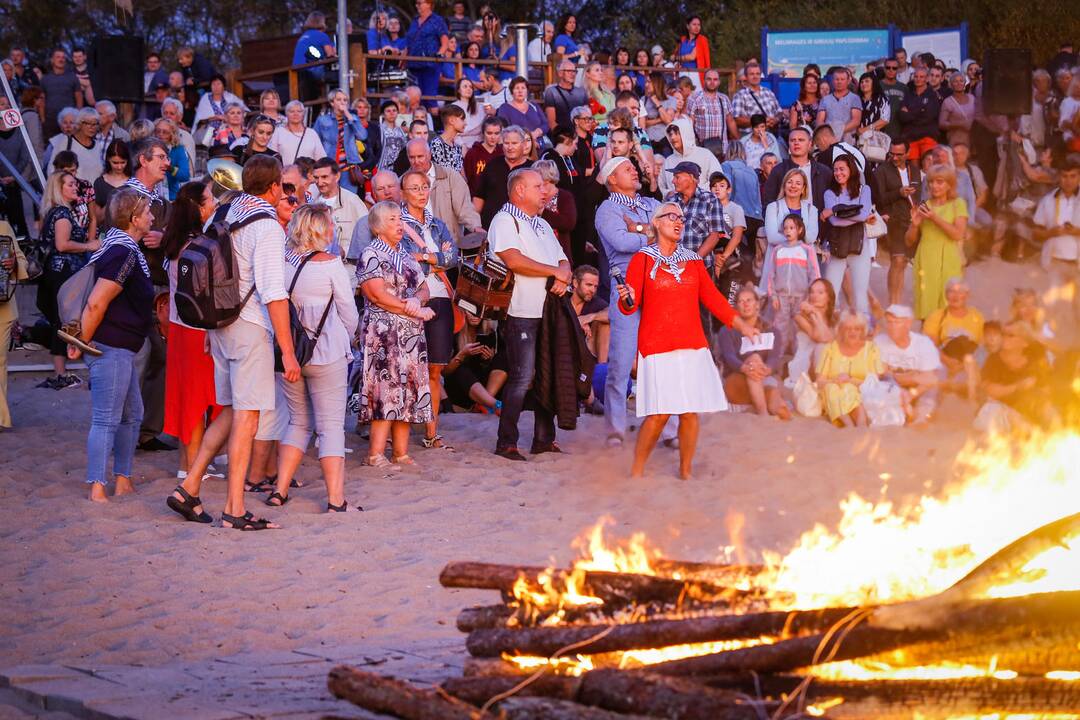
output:
[[[522,678],[450,678],[443,690],[474,705],[510,692]],[[580,678],[542,676],[521,694],[572,699],[616,712],[638,712],[680,720],[760,720],[775,703],[753,701],[742,693],[706,688],[681,678],[648,673],[593,670]]]

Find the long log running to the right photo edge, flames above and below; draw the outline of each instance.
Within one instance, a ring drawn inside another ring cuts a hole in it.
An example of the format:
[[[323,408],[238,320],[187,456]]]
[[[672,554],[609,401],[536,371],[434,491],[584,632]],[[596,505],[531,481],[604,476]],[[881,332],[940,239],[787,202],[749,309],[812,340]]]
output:
[[[918,623],[894,629],[892,619],[888,627],[877,623],[879,613],[897,609],[902,613],[903,604],[906,603],[878,608],[868,613],[866,624],[841,631],[660,663],[650,666],[649,670],[661,675],[711,675],[739,670],[786,673],[831,661],[865,657],[918,642],[960,641],[991,630],[1027,638],[1039,634],[1053,636],[1066,631],[1064,628],[1075,630],[1080,624],[1080,590],[955,602],[942,609],[939,622],[932,626]]]

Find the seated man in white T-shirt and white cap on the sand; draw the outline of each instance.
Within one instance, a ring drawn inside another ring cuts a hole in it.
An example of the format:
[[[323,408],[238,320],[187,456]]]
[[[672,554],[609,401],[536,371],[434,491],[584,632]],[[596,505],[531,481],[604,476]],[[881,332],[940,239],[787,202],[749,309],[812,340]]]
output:
[[[928,422],[937,408],[937,390],[944,376],[941,355],[933,340],[912,332],[915,313],[907,305],[891,304],[885,311],[885,332],[874,338],[886,366],[885,379],[900,386],[908,422]]]

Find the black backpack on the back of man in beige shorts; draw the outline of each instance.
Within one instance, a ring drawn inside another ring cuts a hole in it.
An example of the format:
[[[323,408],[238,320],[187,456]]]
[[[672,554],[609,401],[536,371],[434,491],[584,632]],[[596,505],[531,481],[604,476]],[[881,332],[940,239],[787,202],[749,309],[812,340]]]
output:
[[[216,330],[231,325],[255,291],[240,296],[240,269],[232,250],[232,233],[255,220],[278,218],[268,212],[246,215],[231,225],[225,221],[228,205],[219,207],[205,232],[191,240],[176,259],[176,314],[191,327]]]

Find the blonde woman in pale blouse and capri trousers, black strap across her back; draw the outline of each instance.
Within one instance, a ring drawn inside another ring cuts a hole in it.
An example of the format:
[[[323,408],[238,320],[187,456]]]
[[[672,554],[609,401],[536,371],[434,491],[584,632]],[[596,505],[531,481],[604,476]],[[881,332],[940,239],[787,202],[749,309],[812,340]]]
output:
[[[289,501],[288,488],[314,431],[319,463],[326,480],[326,512],[349,510],[345,499],[345,412],[349,385],[351,339],[360,316],[349,272],[341,258],[326,252],[334,240],[334,217],[327,205],[301,205],[285,233],[285,282],[297,320],[314,344],[311,359],[297,382],[278,383],[288,404],[288,429],[278,450],[278,487],[266,503]]]

